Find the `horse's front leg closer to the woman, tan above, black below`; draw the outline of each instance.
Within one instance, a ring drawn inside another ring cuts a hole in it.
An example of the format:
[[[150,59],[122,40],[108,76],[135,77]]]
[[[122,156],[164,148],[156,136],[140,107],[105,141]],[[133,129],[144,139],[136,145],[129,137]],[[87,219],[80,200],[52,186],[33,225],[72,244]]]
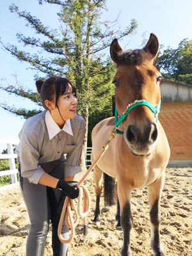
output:
[[[131,214],[131,190],[132,186],[127,180],[121,179],[117,182],[118,200],[121,209],[121,226],[124,233],[124,243],[122,246],[122,256],[131,256],[130,232],[132,228]]]

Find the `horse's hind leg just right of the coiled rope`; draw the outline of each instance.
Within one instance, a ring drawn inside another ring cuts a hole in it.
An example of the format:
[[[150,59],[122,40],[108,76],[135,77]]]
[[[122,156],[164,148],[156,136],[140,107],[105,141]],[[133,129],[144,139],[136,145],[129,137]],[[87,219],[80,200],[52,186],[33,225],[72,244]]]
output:
[[[95,206],[95,218],[92,221],[95,225],[100,225],[100,194],[102,192],[102,176],[103,172],[99,169],[98,166],[95,166],[93,172],[93,178],[95,181],[95,193],[96,193],[96,206]]]

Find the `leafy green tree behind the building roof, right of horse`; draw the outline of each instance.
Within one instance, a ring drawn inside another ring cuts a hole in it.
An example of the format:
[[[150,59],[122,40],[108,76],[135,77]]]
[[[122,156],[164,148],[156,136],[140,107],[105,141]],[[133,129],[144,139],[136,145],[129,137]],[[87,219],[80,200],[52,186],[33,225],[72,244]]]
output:
[[[165,78],[192,84],[192,40],[182,40],[177,49],[168,47],[159,54],[156,65]]]

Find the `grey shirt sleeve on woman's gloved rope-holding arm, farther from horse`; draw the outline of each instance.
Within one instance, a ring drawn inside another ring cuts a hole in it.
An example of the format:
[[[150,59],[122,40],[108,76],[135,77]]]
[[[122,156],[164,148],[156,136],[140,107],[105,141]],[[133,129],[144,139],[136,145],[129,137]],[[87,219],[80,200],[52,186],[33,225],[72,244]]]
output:
[[[30,183],[38,184],[44,170],[39,164],[40,154],[38,152],[38,141],[35,134],[22,132],[20,137],[19,158],[21,176],[28,179]]]

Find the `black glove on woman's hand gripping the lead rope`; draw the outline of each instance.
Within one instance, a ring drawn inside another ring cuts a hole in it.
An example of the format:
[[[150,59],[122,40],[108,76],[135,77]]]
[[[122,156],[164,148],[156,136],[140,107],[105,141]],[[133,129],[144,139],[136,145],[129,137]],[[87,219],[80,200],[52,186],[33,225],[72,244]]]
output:
[[[63,193],[70,199],[74,199],[79,196],[79,188],[77,188],[76,181],[59,180],[56,188],[63,191]]]

